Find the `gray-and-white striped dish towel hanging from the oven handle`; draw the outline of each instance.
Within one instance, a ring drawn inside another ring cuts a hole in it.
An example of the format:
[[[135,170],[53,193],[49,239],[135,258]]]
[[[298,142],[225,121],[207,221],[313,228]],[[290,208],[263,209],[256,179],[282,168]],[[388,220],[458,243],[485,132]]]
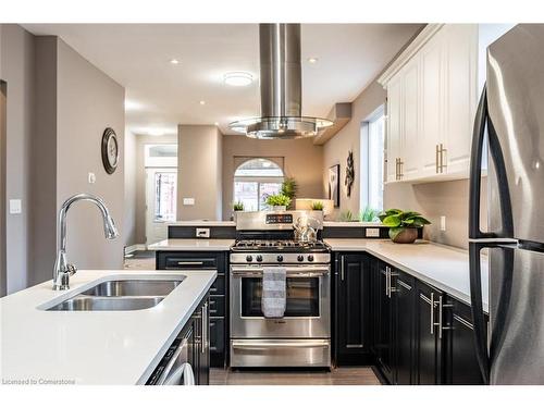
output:
[[[265,318],[283,318],[287,304],[286,279],[285,268],[263,268],[261,310]]]

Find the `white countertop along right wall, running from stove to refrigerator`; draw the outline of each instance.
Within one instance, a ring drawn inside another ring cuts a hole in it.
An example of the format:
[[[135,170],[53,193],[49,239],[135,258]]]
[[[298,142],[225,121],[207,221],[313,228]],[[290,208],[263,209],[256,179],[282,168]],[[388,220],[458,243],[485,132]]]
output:
[[[331,238],[334,251],[366,251],[470,305],[469,254],[466,250],[418,240],[395,244],[390,239]],[[487,258],[482,257],[482,296],[489,310]]]

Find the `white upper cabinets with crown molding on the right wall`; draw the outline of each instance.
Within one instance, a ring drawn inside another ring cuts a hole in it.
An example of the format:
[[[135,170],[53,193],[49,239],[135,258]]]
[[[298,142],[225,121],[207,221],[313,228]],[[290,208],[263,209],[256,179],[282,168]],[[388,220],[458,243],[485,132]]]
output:
[[[387,182],[468,177],[485,64],[480,48],[491,42],[481,32],[477,24],[430,24],[380,77],[388,101]]]

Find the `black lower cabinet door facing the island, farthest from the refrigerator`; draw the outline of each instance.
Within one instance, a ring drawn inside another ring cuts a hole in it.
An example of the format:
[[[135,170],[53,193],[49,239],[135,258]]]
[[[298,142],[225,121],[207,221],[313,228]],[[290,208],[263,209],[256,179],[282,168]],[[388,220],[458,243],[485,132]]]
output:
[[[378,268],[378,309],[374,310],[376,332],[374,337],[374,349],[378,364],[382,373],[390,382],[394,383],[394,349],[393,349],[393,308],[392,298],[387,294],[387,269],[385,263],[380,262]]]

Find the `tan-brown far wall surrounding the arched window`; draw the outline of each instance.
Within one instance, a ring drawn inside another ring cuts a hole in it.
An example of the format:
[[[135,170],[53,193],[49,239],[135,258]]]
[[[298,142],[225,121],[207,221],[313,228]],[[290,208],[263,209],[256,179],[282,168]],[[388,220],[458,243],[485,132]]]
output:
[[[284,172],[298,183],[298,197],[324,198],[323,147],[311,139],[258,140],[243,135],[223,136],[223,220],[232,214],[236,157],[282,157]]]

